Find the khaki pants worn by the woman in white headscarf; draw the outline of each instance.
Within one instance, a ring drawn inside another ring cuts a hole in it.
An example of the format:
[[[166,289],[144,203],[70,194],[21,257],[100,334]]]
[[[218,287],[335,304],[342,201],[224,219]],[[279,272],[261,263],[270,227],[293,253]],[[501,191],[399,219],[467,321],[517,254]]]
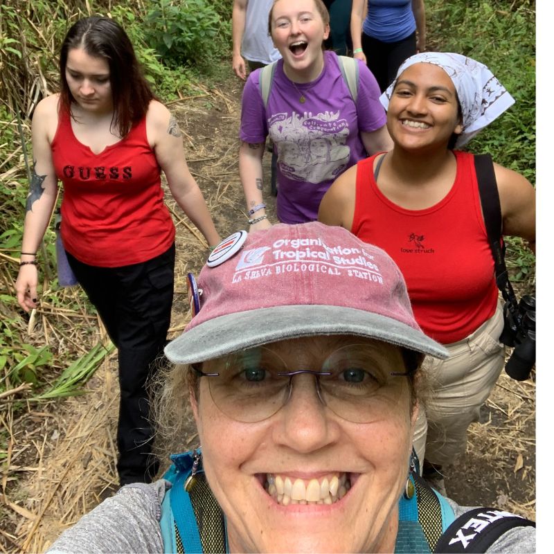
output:
[[[425,370],[432,387],[425,410],[415,423],[413,446],[422,467],[427,461],[447,465],[465,452],[467,427],[479,421],[479,409],[489,397],[504,367],[503,303],[469,337],[445,347],[447,360],[427,357]]]

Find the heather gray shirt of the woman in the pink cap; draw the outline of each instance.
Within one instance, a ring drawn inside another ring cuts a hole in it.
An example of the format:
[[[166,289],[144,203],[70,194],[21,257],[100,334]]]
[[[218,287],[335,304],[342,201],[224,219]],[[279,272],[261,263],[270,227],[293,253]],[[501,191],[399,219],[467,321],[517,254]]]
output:
[[[163,479],[150,485],[126,485],[64,531],[46,554],[163,553],[161,502],[170,487]],[[448,501],[455,517],[472,510]],[[516,527],[504,533],[487,552],[527,554],[535,550],[535,528]]]

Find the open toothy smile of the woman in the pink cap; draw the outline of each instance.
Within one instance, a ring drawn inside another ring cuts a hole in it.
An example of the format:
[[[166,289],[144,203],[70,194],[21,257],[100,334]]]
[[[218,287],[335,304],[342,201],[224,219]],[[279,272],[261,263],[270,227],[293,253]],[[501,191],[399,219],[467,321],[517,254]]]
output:
[[[335,474],[330,479],[289,479],[267,474],[264,488],[281,506],[289,504],[334,504],[350,490],[350,475]]]

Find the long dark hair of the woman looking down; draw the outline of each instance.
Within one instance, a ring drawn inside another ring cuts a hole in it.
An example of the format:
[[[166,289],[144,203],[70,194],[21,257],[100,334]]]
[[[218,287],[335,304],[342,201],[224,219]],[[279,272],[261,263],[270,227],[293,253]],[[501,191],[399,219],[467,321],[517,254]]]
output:
[[[111,123],[120,136],[125,136],[145,116],[150,100],[156,98],[142,74],[127,33],[107,17],[85,17],[71,26],[60,51],[61,107],[67,111],[71,102],[75,102],[65,75],[67,55],[74,48],[107,61],[114,104]]]

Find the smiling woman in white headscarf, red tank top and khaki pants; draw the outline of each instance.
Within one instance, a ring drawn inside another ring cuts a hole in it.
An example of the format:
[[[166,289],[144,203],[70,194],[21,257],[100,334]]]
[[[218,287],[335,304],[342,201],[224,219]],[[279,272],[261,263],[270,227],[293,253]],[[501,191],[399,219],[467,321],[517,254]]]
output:
[[[386,250],[402,270],[422,329],[450,352],[432,364],[434,402],[420,417],[415,447],[440,469],[465,452],[504,365],[502,306],[494,280],[473,154],[456,150],[514,99],[483,64],[454,53],[421,53],[400,66],[380,98],[394,148],[343,173],[319,208]],[[535,249],[535,189],[494,163],[503,235]],[[437,473],[438,470],[438,473]],[[442,481],[442,483],[440,482]]]

